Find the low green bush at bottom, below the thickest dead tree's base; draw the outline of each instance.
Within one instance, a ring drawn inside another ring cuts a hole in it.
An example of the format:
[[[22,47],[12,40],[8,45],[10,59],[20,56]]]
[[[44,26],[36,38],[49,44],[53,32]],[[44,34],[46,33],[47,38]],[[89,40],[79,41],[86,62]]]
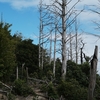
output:
[[[87,99],[87,89],[79,85],[75,79],[70,81],[62,81],[58,86],[59,96],[64,96],[67,100],[86,100]]]

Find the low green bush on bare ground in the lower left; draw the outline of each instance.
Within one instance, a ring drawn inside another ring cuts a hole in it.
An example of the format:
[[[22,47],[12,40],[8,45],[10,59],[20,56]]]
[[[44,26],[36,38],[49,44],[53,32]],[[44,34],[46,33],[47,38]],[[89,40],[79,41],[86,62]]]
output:
[[[34,91],[26,84],[25,81],[18,79],[14,82],[14,93],[21,96],[35,95]]]

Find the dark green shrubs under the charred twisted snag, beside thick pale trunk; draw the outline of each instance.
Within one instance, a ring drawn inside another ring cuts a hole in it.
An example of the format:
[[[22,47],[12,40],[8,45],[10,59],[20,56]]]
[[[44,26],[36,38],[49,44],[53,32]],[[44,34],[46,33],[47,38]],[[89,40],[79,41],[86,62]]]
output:
[[[77,65],[74,62],[68,61],[67,80],[76,79],[81,86],[88,87],[89,65]]]

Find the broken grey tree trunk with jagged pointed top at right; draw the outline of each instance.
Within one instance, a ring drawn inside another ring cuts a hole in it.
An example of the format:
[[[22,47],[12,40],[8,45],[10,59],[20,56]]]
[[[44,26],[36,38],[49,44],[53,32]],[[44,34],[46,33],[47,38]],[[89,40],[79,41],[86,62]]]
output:
[[[98,46],[95,46],[94,55],[91,60],[90,66],[90,79],[89,79],[89,91],[88,91],[88,100],[93,100],[93,94],[96,84],[96,72],[97,72],[97,59],[98,56]]]

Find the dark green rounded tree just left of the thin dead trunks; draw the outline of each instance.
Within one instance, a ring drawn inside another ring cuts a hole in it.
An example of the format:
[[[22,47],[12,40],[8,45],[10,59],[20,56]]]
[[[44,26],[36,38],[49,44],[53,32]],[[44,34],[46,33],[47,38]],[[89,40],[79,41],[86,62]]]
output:
[[[38,72],[38,46],[32,42],[33,40],[31,39],[22,40],[17,44],[16,48],[16,59],[19,69],[22,69],[22,64],[25,63],[24,69],[28,67],[29,74]]]

